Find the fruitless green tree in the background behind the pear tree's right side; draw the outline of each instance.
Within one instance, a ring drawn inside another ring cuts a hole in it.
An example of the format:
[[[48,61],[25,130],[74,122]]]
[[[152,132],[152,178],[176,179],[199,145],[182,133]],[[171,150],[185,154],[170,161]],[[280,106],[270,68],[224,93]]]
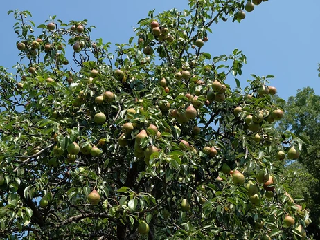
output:
[[[296,96],[288,99],[286,114],[281,120],[281,129],[290,129],[294,134],[308,139],[310,146],[308,151],[299,158],[301,163],[313,178],[309,178],[307,192],[303,194],[308,203],[312,215],[310,229],[319,229],[320,205],[319,205],[319,168],[320,168],[320,96],[314,93],[314,89],[305,87],[298,90]],[[307,178],[308,179],[308,178]],[[298,189],[297,186],[294,189]],[[319,234],[319,233],[318,233]]]

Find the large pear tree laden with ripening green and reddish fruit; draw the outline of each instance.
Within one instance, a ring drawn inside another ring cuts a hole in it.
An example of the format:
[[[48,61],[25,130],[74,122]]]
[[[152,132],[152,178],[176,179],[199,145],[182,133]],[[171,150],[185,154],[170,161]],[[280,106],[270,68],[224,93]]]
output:
[[[189,6],[149,12],[115,55],[86,20],[53,16],[35,35],[30,12],[10,11],[21,62],[0,72],[2,238],[305,239],[283,175],[305,141],[274,127],[273,76],[242,90],[245,55],[204,51],[213,23],[254,6]]]

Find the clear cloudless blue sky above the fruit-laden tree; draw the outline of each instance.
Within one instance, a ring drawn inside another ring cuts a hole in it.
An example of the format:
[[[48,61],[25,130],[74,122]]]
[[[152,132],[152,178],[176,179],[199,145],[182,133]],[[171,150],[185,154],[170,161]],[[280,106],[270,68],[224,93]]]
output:
[[[135,35],[133,27],[137,21],[148,17],[149,10],[155,9],[158,13],[187,7],[187,0],[0,1],[0,66],[11,68],[19,61],[19,50],[15,46],[17,35],[12,28],[15,19],[7,15],[8,10],[29,10],[36,26],[50,15],[57,15],[57,19],[64,22],[88,19],[89,25],[96,26],[92,39],[101,37],[104,42],[115,44],[127,43]],[[240,24],[221,21],[213,26],[204,51],[215,56],[229,55],[234,48],[242,50],[248,62],[242,69],[242,84],[251,73],[275,75],[271,85],[276,86],[278,95],[285,100],[305,86],[314,88],[320,95],[319,11],[319,0],[263,2],[254,12],[247,12]]]

